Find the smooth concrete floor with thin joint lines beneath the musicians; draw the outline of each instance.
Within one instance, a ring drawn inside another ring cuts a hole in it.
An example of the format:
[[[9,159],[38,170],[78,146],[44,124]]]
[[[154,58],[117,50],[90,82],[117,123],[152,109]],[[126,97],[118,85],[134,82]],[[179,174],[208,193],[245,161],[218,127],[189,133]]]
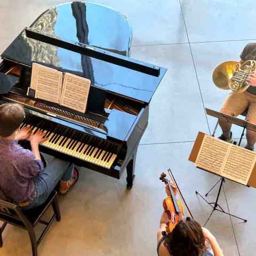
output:
[[[40,13],[62,2],[0,0],[0,52]],[[205,116],[204,107],[218,110],[227,94],[213,86],[212,71],[222,61],[238,59],[245,44],[255,38],[256,4],[252,0],[95,2],[131,20],[133,58],[169,70],[150,103],[133,188],[126,190],[125,175],[115,180],[81,169],[77,185],[59,197],[62,220],[54,222],[39,245],[39,255],[156,255],[164,197],[161,172],[171,167],[194,218],[202,225],[211,212],[195,190],[204,194],[218,177],[196,169],[187,159],[197,132],[209,133],[215,124],[214,118]],[[241,129],[233,131],[238,137]],[[216,194],[214,189],[209,201]],[[253,188],[225,183],[220,205],[248,219],[244,223],[215,212],[207,223],[225,255],[255,255],[255,196]],[[8,226],[3,238],[1,256],[31,255],[26,231]]]

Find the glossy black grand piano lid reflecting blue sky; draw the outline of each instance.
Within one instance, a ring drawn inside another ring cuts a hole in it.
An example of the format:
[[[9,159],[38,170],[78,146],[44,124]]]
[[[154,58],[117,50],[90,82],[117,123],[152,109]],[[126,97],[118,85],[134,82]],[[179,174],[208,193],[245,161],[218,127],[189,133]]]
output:
[[[129,53],[132,37],[130,23],[123,15],[93,3],[74,2],[53,7],[30,27],[123,55]],[[24,31],[1,57],[28,66],[33,61],[45,63],[60,71],[89,78],[94,86],[146,103],[166,72],[161,68],[158,77],[146,75],[27,38]]]

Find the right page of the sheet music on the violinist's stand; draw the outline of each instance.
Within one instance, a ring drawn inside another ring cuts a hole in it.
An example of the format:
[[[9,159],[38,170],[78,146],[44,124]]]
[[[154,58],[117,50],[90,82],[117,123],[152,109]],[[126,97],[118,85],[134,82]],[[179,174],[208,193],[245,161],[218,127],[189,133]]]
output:
[[[255,162],[255,152],[232,145],[227,162],[220,175],[247,185]]]

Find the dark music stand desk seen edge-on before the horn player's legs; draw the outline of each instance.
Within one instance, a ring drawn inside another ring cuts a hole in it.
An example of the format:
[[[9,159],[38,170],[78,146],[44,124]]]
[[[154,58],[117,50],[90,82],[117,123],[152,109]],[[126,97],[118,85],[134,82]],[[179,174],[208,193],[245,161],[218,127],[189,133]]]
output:
[[[252,124],[252,123],[249,123],[247,121],[245,121],[244,119],[240,119],[238,117],[235,117],[235,116],[230,116],[230,115],[227,115],[227,114],[224,114],[224,113],[221,113],[219,111],[215,111],[215,110],[212,110],[212,109],[209,109],[209,108],[205,108],[205,111],[206,111],[206,114],[209,115],[209,116],[213,116],[213,117],[216,117],[216,118],[223,118],[225,119],[226,121],[232,123],[232,124],[236,124],[238,126],[242,126],[244,128],[247,128],[249,130],[252,130],[254,132],[256,132],[256,125],[255,124]]]

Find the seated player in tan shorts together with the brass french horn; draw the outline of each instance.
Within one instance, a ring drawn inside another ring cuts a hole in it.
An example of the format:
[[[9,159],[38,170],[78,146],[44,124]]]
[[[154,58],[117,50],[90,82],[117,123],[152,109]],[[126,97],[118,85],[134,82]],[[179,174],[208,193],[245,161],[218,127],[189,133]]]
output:
[[[221,89],[231,89],[221,112],[238,116],[247,110],[246,121],[256,124],[256,43],[247,44],[240,54],[239,61],[221,63],[213,72],[213,82]],[[222,134],[219,139],[233,142],[231,123],[219,119]],[[253,150],[256,132],[246,130],[246,149]]]

